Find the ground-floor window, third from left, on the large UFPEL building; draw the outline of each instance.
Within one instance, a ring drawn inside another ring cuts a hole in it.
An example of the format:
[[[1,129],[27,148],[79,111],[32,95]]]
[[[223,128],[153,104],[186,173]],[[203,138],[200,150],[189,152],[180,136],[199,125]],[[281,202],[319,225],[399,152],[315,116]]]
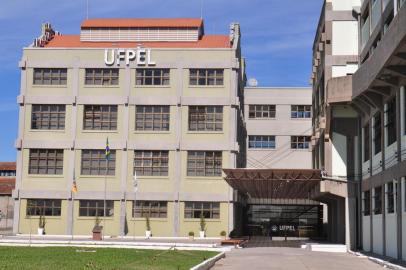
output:
[[[133,202],[133,217],[166,218],[168,203],[164,201],[136,201]]]

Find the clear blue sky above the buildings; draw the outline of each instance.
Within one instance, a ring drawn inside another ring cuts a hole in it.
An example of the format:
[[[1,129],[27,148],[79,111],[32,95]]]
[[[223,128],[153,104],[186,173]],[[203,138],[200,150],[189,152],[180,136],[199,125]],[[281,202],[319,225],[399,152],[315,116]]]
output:
[[[322,0],[89,0],[89,18],[203,18],[207,34],[228,34],[239,22],[247,76],[259,86],[307,86],[311,46]],[[86,0],[0,1],[0,161],[14,161],[22,48],[51,22],[62,34],[78,34]]]

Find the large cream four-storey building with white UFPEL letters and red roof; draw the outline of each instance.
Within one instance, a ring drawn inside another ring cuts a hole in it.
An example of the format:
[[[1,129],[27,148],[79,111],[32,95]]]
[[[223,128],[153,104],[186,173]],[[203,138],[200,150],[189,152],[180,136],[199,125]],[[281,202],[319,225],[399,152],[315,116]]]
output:
[[[198,235],[201,216],[207,236],[233,230],[222,168],[245,166],[240,38],[201,19],[43,25],[19,63],[14,233],[41,214],[51,235],[100,218],[105,235],[145,236],[147,216],[153,236]]]

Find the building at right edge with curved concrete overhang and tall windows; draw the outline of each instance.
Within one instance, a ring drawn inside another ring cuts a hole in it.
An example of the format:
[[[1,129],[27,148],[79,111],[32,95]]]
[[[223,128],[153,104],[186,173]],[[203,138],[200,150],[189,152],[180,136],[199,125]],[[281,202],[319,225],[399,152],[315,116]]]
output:
[[[406,4],[362,1],[352,103],[362,129],[363,250],[406,261]]]

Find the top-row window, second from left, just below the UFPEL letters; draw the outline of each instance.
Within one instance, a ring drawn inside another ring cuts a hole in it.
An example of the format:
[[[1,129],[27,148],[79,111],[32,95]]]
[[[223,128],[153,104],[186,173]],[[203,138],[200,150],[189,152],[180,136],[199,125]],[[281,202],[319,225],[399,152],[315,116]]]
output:
[[[85,85],[118,85],[117,68],[87,68],[85,73]]]

